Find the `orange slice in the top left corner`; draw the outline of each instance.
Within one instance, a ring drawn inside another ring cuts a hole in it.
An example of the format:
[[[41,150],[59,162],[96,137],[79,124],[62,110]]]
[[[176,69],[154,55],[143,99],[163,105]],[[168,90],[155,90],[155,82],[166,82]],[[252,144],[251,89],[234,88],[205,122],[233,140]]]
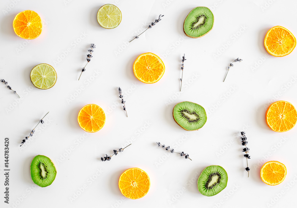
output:
[[[41,34],[42,21],[36,12],[26,10],[15,16],[13,29],[23,39],[35,39]]]

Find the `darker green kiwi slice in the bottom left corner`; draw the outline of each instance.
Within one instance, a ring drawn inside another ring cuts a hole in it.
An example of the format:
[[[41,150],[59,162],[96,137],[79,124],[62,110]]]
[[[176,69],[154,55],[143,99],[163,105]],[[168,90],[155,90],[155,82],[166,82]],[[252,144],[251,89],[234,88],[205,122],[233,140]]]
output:
[[[37,155],[31,162],[31,178],[36,185],[46,187],[56,178],[56,167],[46,156]]]

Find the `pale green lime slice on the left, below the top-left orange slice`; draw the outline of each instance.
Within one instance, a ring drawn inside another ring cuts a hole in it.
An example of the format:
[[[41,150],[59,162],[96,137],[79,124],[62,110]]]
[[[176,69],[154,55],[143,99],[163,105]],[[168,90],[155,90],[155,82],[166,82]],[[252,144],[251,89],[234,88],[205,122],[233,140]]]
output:
[[[39,64],[32,69],[30,78],[35,87],[49,89],[56,84],[57,73],[51,65]]]

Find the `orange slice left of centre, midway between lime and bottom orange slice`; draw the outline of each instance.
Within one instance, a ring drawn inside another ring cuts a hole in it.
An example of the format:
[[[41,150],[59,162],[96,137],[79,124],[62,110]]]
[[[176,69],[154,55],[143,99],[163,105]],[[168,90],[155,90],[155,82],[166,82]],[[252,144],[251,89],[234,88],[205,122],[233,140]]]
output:
[[[97,132],[105,124],[105,113],[98,105],[89,104],[80,109],[77,120],[86,132]]]

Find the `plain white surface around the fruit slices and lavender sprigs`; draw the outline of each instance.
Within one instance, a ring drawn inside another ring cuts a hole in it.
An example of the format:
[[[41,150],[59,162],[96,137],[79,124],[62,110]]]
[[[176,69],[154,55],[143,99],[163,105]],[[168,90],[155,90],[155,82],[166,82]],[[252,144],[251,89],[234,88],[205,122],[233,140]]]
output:
[[[270,207],[273,198],[277,200],[273,207],[293,206],[297,127],[273,132],[265,123],[265,112],[276,100],[297,106],[297,49],[286,57],[273,57],[266,52],[263,40],[268,29],[276,25],[297,35],[296,1],[65,2],[1,1],[0,77],[22,96],[19,100],[0,83],[0,152],[4,137],[9,137],[11,168],[9,205],[3,202],[1,172],[1,207]],[[121,24],[111,30],[102,28],[96,19],[98,9],[108,3],[116,4],[122,12]],[[206,36],[192,39],[185,36],[183,22],[197,6],[211,8],[215,23]],[[36,11],[43,20],[42,34],[28,42],[12,28],[15,15],[27,9]],[[159,14],[165,15],[162,21],[127,44],[135,31],[141,32],[141,27],[147,27]],[[91,43],[97,47],[78,81]],[[165,74],[155,84],[144,84],[133,74],[132,64],[144,52],[159,55],[165,63]],[[187,60],[180,94],[184,53]],[[228,64],[238,57],[243,61],[234,64],[223,83]],[[56,69],[58,80],[51,89],[37,89],[30,81],[31,69],[40,63]],[[119,104],[119,86],[124,91],[128,118]],[[78,90],[80,87],[83,90]],[[208,120],[199,131],[187,132],[173,120],[174,105],[185,100],[202,105],[208,112]],[[77,115],[90,103],[102,107],[107,116],[99,132],[86,134]],[[22,139],[48,111],[34,140],[20,149]],[[246,131],[251,149],[249,178],[238,136],[241,130]],[[123,153],[111,161],[100,160],[129,140],[133,140],[132,145]],[[192,161],[177,154],[166,156],[167,152],[155,144],[158,141],[189,153]],[[38,154],[52,159],[57,169],[55,181],[46,188],[36,187],[30,176],[31,160]],[[260,179],[260,167],[271,160],[287,167],[287,177],[277,186]],[[0,164],[3,168],[3,154]],[[213,164],[226,169],[228,185],[216,196],[206,197],[198,192],[197,179]],[[132,167],[145,170],[151,179],[148,194],[138,200],[123,198],[118,188],[119,176]],[[97,177],[98,170],[103,172]],[[90,183],[90,177],[96,179]],[[86,188],[80,194],[83,186]],[[80,196],[71,202],[74,193]]]

